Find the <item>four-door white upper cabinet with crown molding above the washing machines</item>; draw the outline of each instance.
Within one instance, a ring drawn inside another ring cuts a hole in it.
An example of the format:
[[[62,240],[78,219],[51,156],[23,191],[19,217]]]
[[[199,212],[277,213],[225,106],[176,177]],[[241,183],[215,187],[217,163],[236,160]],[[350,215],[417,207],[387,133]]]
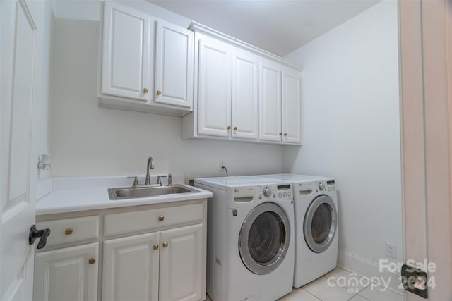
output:
[[[254,46],[192,23],[194,111],[182,138],[301,145],[301,70]]]

